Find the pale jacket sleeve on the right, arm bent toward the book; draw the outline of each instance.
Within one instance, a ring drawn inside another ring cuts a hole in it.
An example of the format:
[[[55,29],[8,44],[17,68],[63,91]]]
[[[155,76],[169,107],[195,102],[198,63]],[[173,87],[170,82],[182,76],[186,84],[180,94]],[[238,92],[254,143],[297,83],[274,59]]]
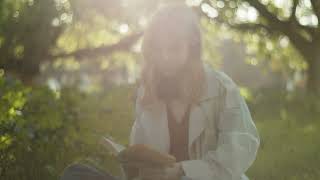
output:
[[[186,176],[192,180],[240,180],[256,158],[260,138],[247,104],[238,87],[226,89],[217,148],[201,159],[182,162]]]

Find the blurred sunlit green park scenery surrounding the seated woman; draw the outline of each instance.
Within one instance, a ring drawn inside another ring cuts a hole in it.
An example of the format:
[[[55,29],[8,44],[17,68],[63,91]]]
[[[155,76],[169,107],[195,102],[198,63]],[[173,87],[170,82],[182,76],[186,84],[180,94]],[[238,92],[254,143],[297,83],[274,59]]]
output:
[[[79,161],[118,174],[99,138],[128,144],[143,30],[176,1],[0,1],[1,180],[58,179]],[[320,179],[320,1],[185,3],[203,60],[239,85],[259,130],[246,174]]]

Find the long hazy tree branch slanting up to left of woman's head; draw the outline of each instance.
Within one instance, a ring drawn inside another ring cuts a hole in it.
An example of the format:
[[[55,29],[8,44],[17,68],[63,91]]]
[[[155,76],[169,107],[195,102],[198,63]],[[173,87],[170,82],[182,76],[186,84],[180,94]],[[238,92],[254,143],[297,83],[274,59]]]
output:
[[[109,55],[115,51],[126,51],[142,36],[142,32],[131,34],[121,39],[118,43],[112,45],[105,45],[98,48],[86,48],[80,49],[71,53],[62,53],[58,55],[49,55],[46,58],[54,60],[57,58],[75,57],[77,59],[83,59],[85,57],[97,57],[101,55]]]

